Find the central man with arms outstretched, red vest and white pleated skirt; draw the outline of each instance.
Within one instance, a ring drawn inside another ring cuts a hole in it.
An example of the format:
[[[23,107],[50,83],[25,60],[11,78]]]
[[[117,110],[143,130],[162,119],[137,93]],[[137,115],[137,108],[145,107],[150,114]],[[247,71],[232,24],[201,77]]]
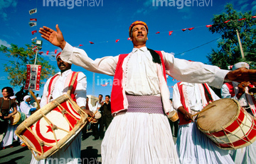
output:
[[[58,25],[56,30],[44,26],[39,32],[44,39],[63,49],[63,60],[88,71],[114,76],[114,119],[102,141],[103,164],[179,163],[166,117],[173,109],[165,74],[179,81],[209,83],[217,88],[222,86],[224,79],[239,81],[242,77],[251,80],[248,71],[229,72],[217,66],[176,59],[173,54],[147,49],[148,27],[142,21],[136,21],[129,27],[129,37],[134,45],[131,53],[95,60],[90,59],[84,50],[65,42]],[[255,72],[253,78],[256,78]],[[156,103],[152,103],[154,100]]]

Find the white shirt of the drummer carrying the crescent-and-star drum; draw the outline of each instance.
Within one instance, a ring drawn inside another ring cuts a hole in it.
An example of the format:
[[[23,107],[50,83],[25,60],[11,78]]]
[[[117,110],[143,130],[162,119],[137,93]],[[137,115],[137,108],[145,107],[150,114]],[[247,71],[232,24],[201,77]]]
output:
[[[60,74],[60,72],[58,72]],[[63,74],[60,74],[60,77],[58,80],[55,82],[54,90],[53,90],[53,99],[60,97],[60,95],[63,95],[63,90],[67,90],[67,88],[64,88],[64,83],[66,78],[68,77],[68,74],[72,74],[71,69],[64,71]],[[46,85],[43,88],[43,97],[40,102],[40,106],[43,107],[44,105],[47,104],[47,98],[48,98],[48,85],[50,83],[50,79],[46,81]],[[63,85],[60,85],[63,84]],[[76,86],[75,90],[75,99],[78,103],[78,106],[82,107],[85,106],[86,104],[86,86],[87,86],[87,81],[86,81],[86,76],[82,72],[79,72],[78,74],[78,85]]]

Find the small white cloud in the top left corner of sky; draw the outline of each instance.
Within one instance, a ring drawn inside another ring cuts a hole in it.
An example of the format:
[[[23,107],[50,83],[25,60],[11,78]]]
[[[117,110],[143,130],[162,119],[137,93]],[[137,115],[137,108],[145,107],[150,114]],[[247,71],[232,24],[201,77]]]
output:
[[[0,16],[4,19],[4,21],[7,20],[7,13],[6,11],[9,11],[9,7],[16,8],[18,4],[18,0],[0,0]]]

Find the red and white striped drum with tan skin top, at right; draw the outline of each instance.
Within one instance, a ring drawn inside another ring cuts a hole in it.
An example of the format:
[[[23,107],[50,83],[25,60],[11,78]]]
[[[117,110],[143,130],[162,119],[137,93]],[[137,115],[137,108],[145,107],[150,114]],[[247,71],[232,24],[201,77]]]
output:
[[[209,108],[210,109],[209,109]],[[256,119],[230,98],[213,101],[196,124],[219,148],[243,148],[256,140]]]

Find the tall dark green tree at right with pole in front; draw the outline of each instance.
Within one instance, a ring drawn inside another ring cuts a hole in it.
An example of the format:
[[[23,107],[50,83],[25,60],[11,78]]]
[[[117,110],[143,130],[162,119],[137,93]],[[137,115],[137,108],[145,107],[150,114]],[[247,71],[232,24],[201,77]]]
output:
[[[225,13],[215,15],[213,26],[209,28],[212,33],[219,33],[221,40],[218,41],[218,49],[212,49],[207,58],[210,64],[228,69],[228,66],[246,61],[252,69],[255,69],[256,61],[256,18],[252,11],[241,13],[235,11],[232,4],[225,6]],[[238,21],[245,18],[245,20]],[[226,22],[226,23],[225,23]],[[238,43],[237,32],[240,33],[242,49],[245,59],[242,59]]]

